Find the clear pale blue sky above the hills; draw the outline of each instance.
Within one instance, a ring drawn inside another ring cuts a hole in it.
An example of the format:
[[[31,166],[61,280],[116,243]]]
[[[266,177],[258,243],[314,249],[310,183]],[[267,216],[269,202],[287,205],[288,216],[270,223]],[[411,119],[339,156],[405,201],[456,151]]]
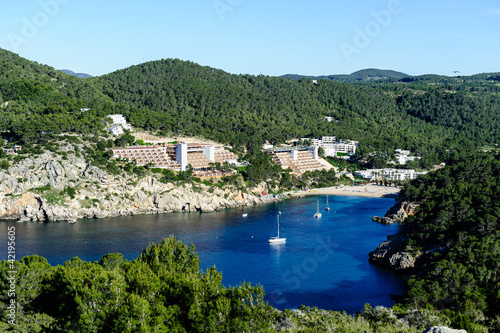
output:
[[[9,0],[0,47],[103,75],[179,58],[234,74],[500,71],[491,0]]]

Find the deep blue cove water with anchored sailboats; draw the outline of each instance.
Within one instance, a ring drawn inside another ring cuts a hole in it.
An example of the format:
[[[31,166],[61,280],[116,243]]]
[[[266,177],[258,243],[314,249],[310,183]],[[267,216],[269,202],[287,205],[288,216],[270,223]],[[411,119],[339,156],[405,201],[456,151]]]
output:
[[[316,201],[323,216],[313,217]],[[244,207],[218,213],[160,214],[79,220],[68,223],[2,222],[16,227],[16,256],[37,254],[58,265],[78,256],[99,260],[121,252],[135,259],[150,242],[175,235],[195,244],[201,266],[215,265],[225,285],[242,281],[261,284],[266,299],[279,309],[300,305],[330,310],[360,311],[365,303],[391,306],[390,295],[403,292],[403,278],[368,262],[368,253],[397,232],[397,226],[372,222],[394,204],[392,199],[325,196]],[[286,244],[270,245],[276,234]],[[248,213],[242,217],[242,213]],[[5,237],[6,238],[6,237]],[[7,240],[0,260],[7,259]]]

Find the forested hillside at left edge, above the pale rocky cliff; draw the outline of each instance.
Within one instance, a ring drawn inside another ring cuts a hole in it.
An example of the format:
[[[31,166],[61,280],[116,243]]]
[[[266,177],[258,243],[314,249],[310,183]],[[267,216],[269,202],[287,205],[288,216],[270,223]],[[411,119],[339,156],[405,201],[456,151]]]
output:
[[[98,133],[105,115],[126,108],[87,79],[0,49],[0,131],[14,142],[31,146],[62,132]]]

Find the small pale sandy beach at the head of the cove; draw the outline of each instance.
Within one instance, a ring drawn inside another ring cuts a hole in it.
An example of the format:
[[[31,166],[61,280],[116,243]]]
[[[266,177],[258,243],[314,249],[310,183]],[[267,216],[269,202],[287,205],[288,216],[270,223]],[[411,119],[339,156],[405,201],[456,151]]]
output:
[[[395,198],[399,194],[399,187],[362,185],[362,186],[343,186],[327,187],[309,191],[300,191],[302,195],[353,195],[359,197],[372,198]]]

